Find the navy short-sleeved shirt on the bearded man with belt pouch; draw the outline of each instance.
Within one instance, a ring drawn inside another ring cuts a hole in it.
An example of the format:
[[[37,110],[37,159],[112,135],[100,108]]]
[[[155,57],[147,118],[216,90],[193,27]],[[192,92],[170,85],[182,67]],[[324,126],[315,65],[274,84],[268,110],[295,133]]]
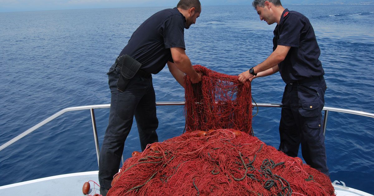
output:
[[[184,45],[184,24],[186,18],[174,9],[161,10],[145,20],[131,35],[128,44],[119,56],[129,55],[138,60],[140,69],[157,74],[172,61],[170,48]]]

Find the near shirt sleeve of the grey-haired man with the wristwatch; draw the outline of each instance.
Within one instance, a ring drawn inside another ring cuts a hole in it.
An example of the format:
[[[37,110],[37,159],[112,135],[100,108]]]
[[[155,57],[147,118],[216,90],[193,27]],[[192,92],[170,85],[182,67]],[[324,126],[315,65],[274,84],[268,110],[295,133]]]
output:
[[[301,30],[304,27],[301,18],[296,15],[288,15],[283,19],[279,29],[278,45],[299,47]]]

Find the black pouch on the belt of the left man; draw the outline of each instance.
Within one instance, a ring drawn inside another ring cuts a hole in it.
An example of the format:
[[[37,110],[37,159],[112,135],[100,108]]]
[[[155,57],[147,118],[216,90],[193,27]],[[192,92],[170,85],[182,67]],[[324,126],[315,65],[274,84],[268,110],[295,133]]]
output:
[[[117,66],[121,67],[121,74],[117,81],[117,88],[124,91],[130,79],[138,72],[141,63],[129,55],[122,55],[118,58]]]

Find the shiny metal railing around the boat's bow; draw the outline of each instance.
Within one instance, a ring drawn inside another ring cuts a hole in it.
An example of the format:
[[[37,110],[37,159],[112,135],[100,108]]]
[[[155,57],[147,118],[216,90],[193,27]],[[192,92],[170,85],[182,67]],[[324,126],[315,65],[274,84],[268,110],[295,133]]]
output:
[[[252,103],[252,104],[254,106],[258,106],[258,107],[270,107],[270,108],[281,108],[282,107],[282,104],[277,104],[277,103]],[[185,105],[185,102],[156,102],[156,106],[175,106],[175,105]],[[58,116],[61,116],[62,114],[66,113],[66,112],[89,110],[91,112],[93,138],[95,140],[96,156],[97,156],[97,161],[98,161],[98,164],[99,164],[100,149],[99,149],[99,140],[98,140],[98,137],[97,137],[96,118],[95,118],[94,109],[102,109],[102,108],[110,108],[110,104],[78,106],[78,107],[70,107],[70,108],[62,109],[61,111],[53,114],[52,116],[49,116],[44,121],[39,122],[34,127],[29,128],[25,132],[19,134],[18,136],[14,137],[13,139],[9,140],[7,143],[1,145],[0,146],[0,151],[3,150],[4,148],[8,147],[9,145],[15,143],[16,141],[18,141],[22,137],[27,136],[28,134],[32,133],[33,131],[37,130],[38,128],[42,127],[43,125],[47,124],[48,122],[52,121],[53,119],[57,118]],[[374,118],[373,113],[361,112],[361,111],[355,111],[355,110],[348,110],[348,109],[341,109],[341,108],[324,107],[323,111],[325,111],[325,115],[324,115],[324,134],[326,133],[327,118],[328,118],[328,113],[330,111],[331,112],[349,113],[349,114],[367,116],[367,117]],[[122,158],[122,162],[123,162],[123,158]]]

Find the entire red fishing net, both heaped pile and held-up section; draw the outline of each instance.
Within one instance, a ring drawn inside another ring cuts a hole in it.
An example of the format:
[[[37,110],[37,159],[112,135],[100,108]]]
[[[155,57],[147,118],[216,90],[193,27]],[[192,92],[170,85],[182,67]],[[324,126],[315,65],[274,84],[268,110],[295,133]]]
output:
[[[200,86],[186,83],[187,132],[133,153],[108,196],[335,195],[327,175],[252,136],[251,103],[243,100],[251,100],[250,84],[240,85],[202,66],[194,68],[205,76]],[[246,109],[238,108],[240,104]],[[250,122],[236,121],[240,115],[246,116],[241,121]]]

